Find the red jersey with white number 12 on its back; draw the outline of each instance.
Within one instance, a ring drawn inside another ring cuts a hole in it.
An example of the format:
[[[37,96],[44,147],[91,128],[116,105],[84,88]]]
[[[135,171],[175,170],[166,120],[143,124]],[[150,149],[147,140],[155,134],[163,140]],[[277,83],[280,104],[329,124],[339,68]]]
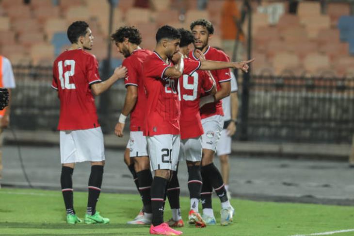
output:
[[[53,64],[52,88],[58,90],[58,130],[99,127],[91,84],[101,82],[94,55],[82,49],[64,51]]]

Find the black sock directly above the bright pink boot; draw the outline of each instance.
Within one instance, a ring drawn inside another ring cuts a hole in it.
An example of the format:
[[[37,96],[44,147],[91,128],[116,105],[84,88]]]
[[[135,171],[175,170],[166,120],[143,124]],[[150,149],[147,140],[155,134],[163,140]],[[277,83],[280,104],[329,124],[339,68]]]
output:
[[[152,208],[152,224],[154,226],[163,223],[163,197],[167,180],[161,177],[154,177],[151,185],[151,208]]]

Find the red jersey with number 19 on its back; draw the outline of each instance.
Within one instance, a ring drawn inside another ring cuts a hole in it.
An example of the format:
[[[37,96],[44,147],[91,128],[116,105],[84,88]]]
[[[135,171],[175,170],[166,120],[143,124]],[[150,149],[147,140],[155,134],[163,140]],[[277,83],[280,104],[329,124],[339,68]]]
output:
[[[207,71],[197,70],[179,78],[181,139],[199,137],[204,133],[199,100],[202,93],[209,92],[213,87],[214,81]]]

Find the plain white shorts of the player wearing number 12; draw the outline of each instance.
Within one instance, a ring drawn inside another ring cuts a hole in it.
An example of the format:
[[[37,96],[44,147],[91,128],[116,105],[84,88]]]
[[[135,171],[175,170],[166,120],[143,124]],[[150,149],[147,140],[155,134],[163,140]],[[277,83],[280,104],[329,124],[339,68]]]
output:
[[[62,164],[104,161],[104,142],[101,127],[60,131],[60,159]]]

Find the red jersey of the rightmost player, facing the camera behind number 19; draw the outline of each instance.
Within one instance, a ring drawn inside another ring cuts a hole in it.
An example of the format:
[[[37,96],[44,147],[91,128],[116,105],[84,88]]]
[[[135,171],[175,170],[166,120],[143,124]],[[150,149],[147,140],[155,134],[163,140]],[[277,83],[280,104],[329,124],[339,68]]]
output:
[[[197,60],[197,58],[194,57],[194,51],[191,51],[189,53],[189,57]],[[207,60],[211,61],[221,61],[221,62],[228,62],[229,59],[225,52],[221,50],[217,50],[213,47],[208,46],[207,51],[204,52],[205,58]],[[218,69],[218,70],[210,70],[212,76],[215,79],[216,82],[216,88],[219,90],[220,89],[220,83],[231,81],[231,71],[230,69]],[[205,104],[201,109],[200,109],[200,115],[202,119],[211,117],[214,115],[221,115],[224,116],[223,112],[223,103],[222,101],[218,102],[213,102],[213,103],[207,103]]]

